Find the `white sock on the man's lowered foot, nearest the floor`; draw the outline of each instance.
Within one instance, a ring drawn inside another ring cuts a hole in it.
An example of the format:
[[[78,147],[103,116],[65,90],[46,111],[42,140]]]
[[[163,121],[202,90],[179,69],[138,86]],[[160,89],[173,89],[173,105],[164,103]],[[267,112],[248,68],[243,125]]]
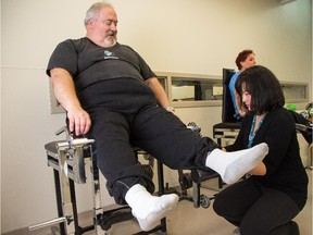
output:
[[[168,214],[177,205],[176,194],[152,196],[147,189],[136,184],[128,189],[125,200],[132,208],[132,213],[138,220],[142,231],[150,231],[155,227],[160,220]]]

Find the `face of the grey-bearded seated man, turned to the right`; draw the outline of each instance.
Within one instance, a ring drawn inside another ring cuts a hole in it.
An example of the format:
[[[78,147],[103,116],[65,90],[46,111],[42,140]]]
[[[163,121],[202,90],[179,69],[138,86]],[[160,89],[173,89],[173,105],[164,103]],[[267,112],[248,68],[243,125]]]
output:
[[[113,47],[117,41],[117,15],[111,8],[103,8],[99,17],[90,22],[93,37],[104,47]]]

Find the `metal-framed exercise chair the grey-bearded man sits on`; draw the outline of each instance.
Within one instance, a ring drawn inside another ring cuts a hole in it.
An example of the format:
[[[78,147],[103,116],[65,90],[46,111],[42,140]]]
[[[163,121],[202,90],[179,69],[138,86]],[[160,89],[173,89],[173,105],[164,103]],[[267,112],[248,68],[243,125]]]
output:
[[[57,135],[65,133],[66,139],[62,141],[48,143],[45,146],[47,152],[48,165],[53,168],[55,197],[59,218],[43,222],[29,230],[37,230],[45,226],[52,226],[54,235],[80,235],[88,231],[96,231],[96,234],[109,234],[109,230],[115,223],[134,219],[128,206],[116,209],[104,210],[101,207],[100,173],[95,158],[93,139],[73,138],[67,127],[61,128]],[[147,160],[149,156],[138,148],[134,148],[137,157],[142,154]],[[86,183],[85,161],[90,161],[92,193],[93,193],[93,224],[80,226],[77,214],[77,205],[75,196],[75,184]],[[151,163],[151,162],[150,162]],[[152,165],[142,164],[142,170],[150,176],[153,176]],[[158,182],[159,195],[164,194],[163,165],[158,162]],[[160,225],[150,232],[139,232],[136,234],[150,234],[156,231],[166,232],[166,220],[163,218]]]

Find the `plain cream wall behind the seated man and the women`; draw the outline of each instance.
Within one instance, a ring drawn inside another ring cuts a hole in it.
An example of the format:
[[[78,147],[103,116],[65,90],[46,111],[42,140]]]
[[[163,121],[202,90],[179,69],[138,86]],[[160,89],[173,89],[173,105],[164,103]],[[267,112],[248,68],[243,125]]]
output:
[[[57,139],[64,115],[50,114],[45,70],[58,42],[85,35],[83,20],[92,2],[1,0],[2,233],[57,217],[43,145]],[[312,85],[311,0],[111,2],[120,16],[120,42],[155,71],[221,75],[222,67],[235,67],[240,50],[251,48],[278,78]],[[221,107],[195,108],[192,120],[190,109],[177,113],[212,135]],[[79,211],[91,205],[89,189],[78,187]]]

